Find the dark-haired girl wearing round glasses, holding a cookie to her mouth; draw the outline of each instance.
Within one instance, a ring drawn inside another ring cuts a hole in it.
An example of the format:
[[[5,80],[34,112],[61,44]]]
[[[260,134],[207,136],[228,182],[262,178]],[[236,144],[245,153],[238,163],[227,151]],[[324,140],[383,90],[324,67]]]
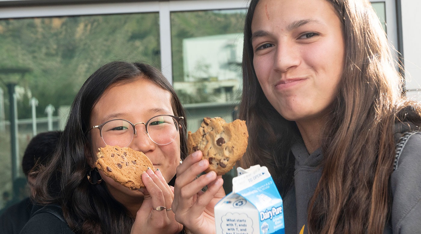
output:
[[[72,104],[52,162],[35,181],[45,205],[21,233],[179,233],[171,210],[173,178],[187,154],[184,110],[168,80],[141,63],[105,64]],[[155,172],[132,191],[95,168],[100,147],[143,152]],[[53,178],[58,178],[53,180]]]

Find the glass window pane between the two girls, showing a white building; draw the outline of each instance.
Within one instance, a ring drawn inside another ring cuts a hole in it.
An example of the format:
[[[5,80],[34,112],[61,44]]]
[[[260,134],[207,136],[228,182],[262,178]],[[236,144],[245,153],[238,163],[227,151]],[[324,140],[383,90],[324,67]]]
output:
[[[231,122],[236,113],[242,89],[245,13],[171,13],[173,86],[188,111],[189,130],[197,130],[203,117]]]

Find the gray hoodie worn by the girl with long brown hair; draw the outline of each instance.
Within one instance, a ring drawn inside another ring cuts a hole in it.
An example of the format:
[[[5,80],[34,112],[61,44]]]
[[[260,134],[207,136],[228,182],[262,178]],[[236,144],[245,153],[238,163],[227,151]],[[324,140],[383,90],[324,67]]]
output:
[[[395,138],[408,131],[406,125],[397,125]],[[396,141],[396,142],[397,142]],[[294,154],[294,186],[283,197],[285,233],[307,231],[307,206],[320,180],[322,160],[320,149],[311,155],[303,142],[291,147]],[[392,188],[392,217],[385,224],[384,234],[421,234],[421,132],[412,135],[399,157],[398,167],[390,178]]]

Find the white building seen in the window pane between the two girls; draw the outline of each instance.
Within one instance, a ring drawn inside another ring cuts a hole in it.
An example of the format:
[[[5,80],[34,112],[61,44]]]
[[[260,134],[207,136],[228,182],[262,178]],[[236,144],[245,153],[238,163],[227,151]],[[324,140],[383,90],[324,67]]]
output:
[[[173,82],[174,89],[208,94],[213,103],[232,101],[241,89],[242,44],[242,33],[183,39],[184,81]]]

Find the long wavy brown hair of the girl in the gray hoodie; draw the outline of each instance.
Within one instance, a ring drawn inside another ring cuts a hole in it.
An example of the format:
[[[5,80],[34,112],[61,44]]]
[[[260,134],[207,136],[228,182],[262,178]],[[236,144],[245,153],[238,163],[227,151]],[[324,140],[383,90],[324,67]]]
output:
[[[251,1],[244,27],[240,118],[248,124],[249,146],[241,165],[265,165],[285,194],[293,184],[290,145],[300,134],[295,122],[266,99],[253,68],[251,21],[258,1]],[[394,125],[407,121],[419,129],[420,106],[402,95],[402,76],[370,2],[327,1],[342,21],[346,58],[326,116],[322,176],[308,206],[307,226],[312,234],[381,234],[392,200]]]

